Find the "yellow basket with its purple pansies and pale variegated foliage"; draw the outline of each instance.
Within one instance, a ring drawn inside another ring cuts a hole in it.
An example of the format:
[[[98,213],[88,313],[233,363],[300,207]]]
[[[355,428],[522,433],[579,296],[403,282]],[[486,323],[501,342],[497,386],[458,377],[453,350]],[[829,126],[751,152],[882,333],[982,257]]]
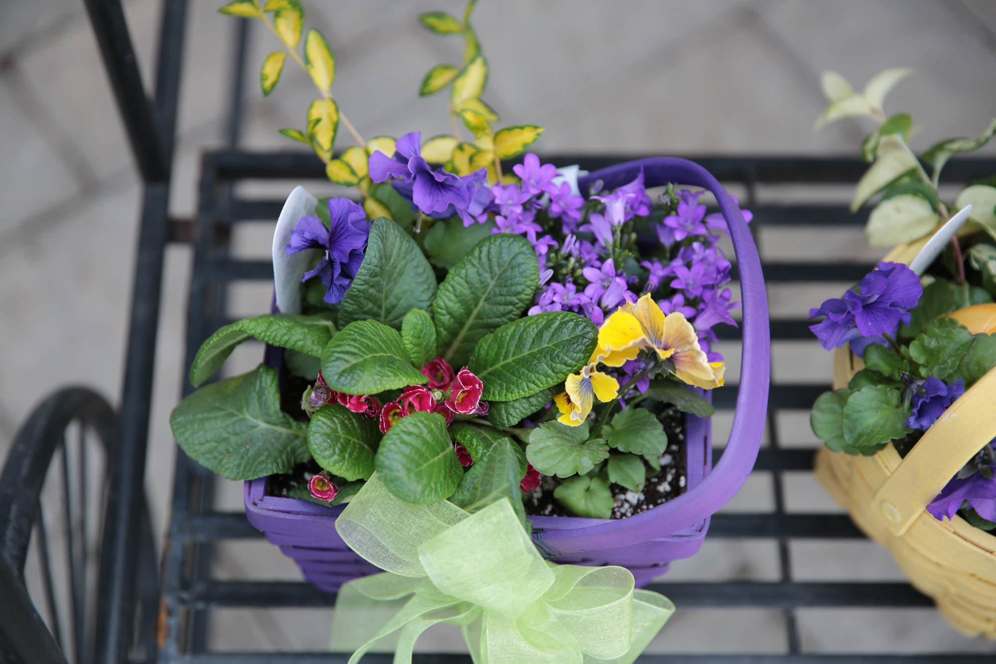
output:
[[[843,453],[818,457],[817,477],[955,627],[994,638],[996,537],[986,532],[996,529],[996,179],[970,183],[953,203],[938,184],[948,159],[984,146],[996,120],[917,160],[906,144],[910,116],[881,110],[909,71],[886,70],[863,94],[824,75],[832,103],[818,125],[877,122],[853,207],[878,195],[869,241],[898,246],[843,298],[811,311],[823,317],[811,327],[820,342],[838,349],[836,389],[816,401],[813,431]]]

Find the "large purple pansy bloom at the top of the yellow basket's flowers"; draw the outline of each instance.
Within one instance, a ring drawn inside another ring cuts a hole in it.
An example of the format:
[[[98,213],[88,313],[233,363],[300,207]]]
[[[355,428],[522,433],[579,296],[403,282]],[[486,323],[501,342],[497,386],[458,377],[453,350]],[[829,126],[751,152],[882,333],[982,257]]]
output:
[[[923,295],[916,273],[902,263],[881,261],[859,284],[861,294],[849,290],[843,298],[831,298],[810,310],[810,318],[827,318],[810,329],[827,350],[839,348],[857,336],[892,333],[898,324],[909,323],[910,309]],[[867,345],[867,344],[866,344]]]

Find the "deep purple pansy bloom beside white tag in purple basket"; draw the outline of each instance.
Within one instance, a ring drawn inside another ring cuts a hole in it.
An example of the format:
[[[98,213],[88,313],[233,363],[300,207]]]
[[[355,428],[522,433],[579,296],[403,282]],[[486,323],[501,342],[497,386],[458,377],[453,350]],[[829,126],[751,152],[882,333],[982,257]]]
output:
[[[330,198],[329,214],[332,227],[328,230],[317,216],[301,217],[291,233],[287,255],[307,249],[325,251],[315,269],[305,272],[301,280],[321,277],[328,289],[325,301],[337,304],[350,289],[364,261],[371,224],[364,208],[349,198]]]

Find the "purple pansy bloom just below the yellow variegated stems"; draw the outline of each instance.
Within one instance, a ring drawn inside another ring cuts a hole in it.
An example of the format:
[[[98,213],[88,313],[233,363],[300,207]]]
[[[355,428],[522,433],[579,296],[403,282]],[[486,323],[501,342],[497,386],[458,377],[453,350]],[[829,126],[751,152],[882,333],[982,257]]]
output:
[[[392,158],[374,151],[370,158],[371,179],[383,182],[400,177],[403,182],[394,182],[394,188],[422,212],[436,218],[459,214],[465,226],[474,223],[473,215],[479,214],[486,204],[483,198],[490,200],[490,191],[486,196],[478,196],[478,187],[487,189],[484,168],[463,176],[446,172],[442,166],[433,170],[421,157],[420,143],[421,132],[411,132],[395,142]],[[475,211],[474,203],[481,209]]]

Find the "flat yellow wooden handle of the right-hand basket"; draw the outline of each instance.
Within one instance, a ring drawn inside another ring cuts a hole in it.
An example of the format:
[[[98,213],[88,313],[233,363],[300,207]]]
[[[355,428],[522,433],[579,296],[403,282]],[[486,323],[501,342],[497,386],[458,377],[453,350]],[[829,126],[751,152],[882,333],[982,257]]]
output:
[[[937,418],[872,498],[872,513],[881,516],[892,534],[901,535],[994,437],[996,370]]]

